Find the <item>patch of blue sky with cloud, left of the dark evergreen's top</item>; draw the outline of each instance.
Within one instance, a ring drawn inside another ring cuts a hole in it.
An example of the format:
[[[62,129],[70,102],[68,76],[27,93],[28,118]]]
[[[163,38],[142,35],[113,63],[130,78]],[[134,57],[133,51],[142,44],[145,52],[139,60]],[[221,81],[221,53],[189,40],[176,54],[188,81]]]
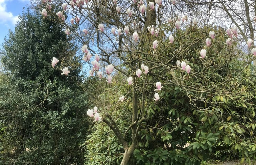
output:
[[[0,0],[0,45],[4,42],[4,36],[8,35],[8,29],[14,30],[18,16],[23,7],[27,8],[29,0]]]

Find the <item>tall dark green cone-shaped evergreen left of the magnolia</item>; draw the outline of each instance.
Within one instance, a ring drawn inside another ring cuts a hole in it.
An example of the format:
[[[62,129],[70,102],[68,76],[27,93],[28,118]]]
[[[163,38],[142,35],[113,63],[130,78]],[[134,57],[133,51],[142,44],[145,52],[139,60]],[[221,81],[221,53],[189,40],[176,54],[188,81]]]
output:
[[[0,164],[83,164],[88,94],[78,61],[58,22],[23,13],[3,47]],[[57,67],[52,57],[61,58]],[[60,69],[72,66],[72,76]]]

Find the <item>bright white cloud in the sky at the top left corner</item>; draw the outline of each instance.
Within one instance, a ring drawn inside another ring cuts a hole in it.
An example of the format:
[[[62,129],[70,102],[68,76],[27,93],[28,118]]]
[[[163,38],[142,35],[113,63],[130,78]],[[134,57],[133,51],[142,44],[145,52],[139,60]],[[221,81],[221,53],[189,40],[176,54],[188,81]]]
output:
[[[13,13],[6,11],[6,1],[0,0],[0,24],[9,24],[15,25],[19,21],[18,16],[14,16]]]

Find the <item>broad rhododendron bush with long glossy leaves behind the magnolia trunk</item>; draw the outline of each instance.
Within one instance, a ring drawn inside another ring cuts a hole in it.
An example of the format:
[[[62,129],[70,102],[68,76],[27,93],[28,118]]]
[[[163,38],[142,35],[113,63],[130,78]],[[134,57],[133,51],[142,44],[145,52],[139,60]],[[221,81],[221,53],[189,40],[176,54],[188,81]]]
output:
[[[255,71],[247,62],[251,56],[237,50],[235,44],[229,47],[225,43],[225,32],[214,29],[216,39],[212,40],[211,47],[205,47],[205,59],[199,58],[198,50],[204,46],[210,30],[179,30],[174,33],[176,40],[172,45],[166,41],[154,56],[141,55],[148,61],[155,58],[156,63],[144,64],[149,68],[157,67],[148,76],[134,80],[138,86],[143,81],[147,84],[146,120],[142,122],[139,146],[131,164],[199,165],[209,159],[240,159],[243,162],[256,158]],[[144,43],[145,50],[152,41],[148,45]],[[191,73],[175,69],[177,60],[185,60],[192,67]],[[135,71],[128,72],[134,74]],[[126,85],[125,79],[115,75],[115,80],[105,86],[104,92],[94,90],[94,104],[113,116],[122,133],[131,124],[132,111],[131,86]],[[154,102],[152,91],[157,81],[162,82],[163,89],[159,92],[161,100]],[[100,81],[93,86],[103,87],[103,83]],[[138,88],[138,98],[142,98],[143,88]],[[125,95],[124,102],[118,101],[120,95]],[[138,104],[141,105],[140,99]],[[130,136],[126,140],[132,142]],[[120,164],[123,148],[117,142],[105,123],[95,126],[85,143],[86,164]]]

